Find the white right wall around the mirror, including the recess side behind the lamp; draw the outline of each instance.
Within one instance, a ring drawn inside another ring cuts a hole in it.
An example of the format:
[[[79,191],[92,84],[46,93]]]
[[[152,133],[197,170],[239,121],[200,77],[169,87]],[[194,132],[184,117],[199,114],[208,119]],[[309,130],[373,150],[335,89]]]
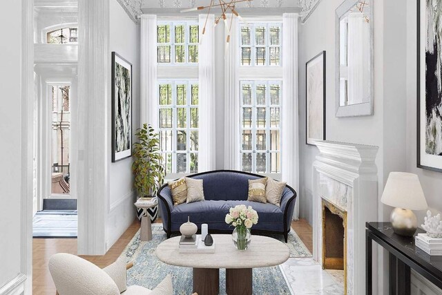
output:
[[[412,0],[410,0],[412,1]],[[407,157],[406,8],[402,0],[374,3],[374,115],[335,117],[335,10],[343,0],[320,1],[307,22],[299,28],[300,106],[300,217],[312,222],[312,164],[318,150],[305,144],[305,63],[321,50],[327,51],[327,140],[379,146],[378,196],[391,171],[405,171]],[[408,120],[410,122],[410,120]],[[378,202],[378,220],[389,220],[391,207]],[[367,220],[369,221],[369,220]],[[387,256],[378,256],[378,293],[387,294]],[[376,292],[376,291],[375,291]]]

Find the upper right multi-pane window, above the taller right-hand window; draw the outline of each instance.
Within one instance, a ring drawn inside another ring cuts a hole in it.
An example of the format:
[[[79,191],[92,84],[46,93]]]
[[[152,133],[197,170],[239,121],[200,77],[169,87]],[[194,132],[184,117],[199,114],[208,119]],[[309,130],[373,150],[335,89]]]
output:
[[[280,66],[281,23],[249,23],[240,26],[241,66]]]

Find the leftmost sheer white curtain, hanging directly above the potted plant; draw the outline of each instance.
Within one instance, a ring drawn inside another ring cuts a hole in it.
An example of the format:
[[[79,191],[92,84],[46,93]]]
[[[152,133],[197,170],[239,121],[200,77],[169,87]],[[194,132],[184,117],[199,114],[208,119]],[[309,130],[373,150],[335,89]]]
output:
[[[157,16],[141,16],[141,125],[158,127]]]

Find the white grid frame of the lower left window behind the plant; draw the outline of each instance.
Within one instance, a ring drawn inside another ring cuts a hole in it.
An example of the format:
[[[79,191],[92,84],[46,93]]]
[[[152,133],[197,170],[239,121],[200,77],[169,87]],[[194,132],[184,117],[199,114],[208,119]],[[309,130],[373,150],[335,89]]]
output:
[[[171,84],[172,85],[172,104],[171,105],[160,105],[160,85],[162,84]],[[185,84],[187,87],[186,90],[186,104],[178,105],[177,104],[177,90],[176,86],[178,84]],[[198,128],[191,128],[191,109],[197,108],[199,110],[199,104],[193,105],[191,104],[191,86],[198,85],[199,91],[199,83],[198,79],[158,79],[157,80],[157,103],[158,103],[158,132],[161,131],[172,131],[172,150],[171,151],[160,151],[162,154],[172,154],[172,162],[171,162],[171,172],[167,173],[167,179],[175,179],[180,178],[182,175],[189,175],[192,173],[190,171],[190,154],[195,153],[198,156],[198,151],[191,151],[191,132],[192,131],[200,131],[200,122],[199,122],[199,112],[198,112]],[[198,102],[200,101],[200,97],[198,94]],[[172,108],[172,127],[171,128],[160,128],[160,111],[164,108]],[[186,108],[186,128],[178,128],[177,127],[177,108]],[[177,151],[177,131],[186,131],[186,150],[185,151]],[[199,134],[198,134],[199,139]],[[177,155],[178,154],[186,154],[186,172],[178,173],[176,171],[177,168]]]

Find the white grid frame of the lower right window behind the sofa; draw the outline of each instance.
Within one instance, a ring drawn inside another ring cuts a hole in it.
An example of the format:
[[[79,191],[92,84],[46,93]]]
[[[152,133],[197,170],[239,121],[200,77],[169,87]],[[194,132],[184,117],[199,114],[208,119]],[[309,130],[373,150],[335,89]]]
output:
[[[242,93],[242,86],[249,84],[251,85],[251,104],[244,104],[244,98],[243,98],[243,93]],[[270,97],[270,85],[275,85],[277,84],[278,86],[280,86],[280,94],[279,94],[279,103],[278,104],[271,104],[271,97]],[[256,86],[257,85],[265,85],[266,86],[266,93],[265,93],[265,104],[258,104],[256,102]],[[279,138],[281,138],[281,120],[279,122],[279,127],[271,127],[271,112],[270,109],[271,108],[279,108],[280,109],[280,113],[281,113],[281,98],[282,98],[282,81],[281,80],[276,80],[276,81],[271,81],[271,80],[242,80],[240,81],[240,114],[241,114],[241,119],[240,119],[240,169],[242,170],[242,154],[243,153],[251,153],[252,154],[252,165],[251,165],[251,173],[264,173],[264,174],[269,174],[269,175],[274,175],[274,174],[280,174],[280,171],[274,173],[271,172],[271,164],[270,164],[270,156],[271,153],[279,153],[281,155],[281,150],[272,150],[270,149],[271,144],[270,144],[270,135],[271,135],[271,131],[279,131],[280,135]],[[266,114],[265,114],[265,120],[266,120],[266,126],[263,128],[259,128],[258,126],[256,126],[256,123],[258,122],[258,118],[257,118],[257,111],[258,108],[265,108],[266,110]],[[243,124],[242,124],[242,110],[243,108],[251,108],[251,127],[246,127],[244,128]],[[258,130],[264,130],[265,131],[265,135],[266,135],[266,142],[265,142],[265,146],[266,149],[265,150],[258,150],[257,149],[257,136],[256,136],[256,131]],[[242,133],[243,131],[251,131],[251,150],[244,150],[242,149]],[[278,143],[278,146],[280,148],[281,146],[281,142]],[[266,171],[265,172],[257,172],[256,168],[256,162],[257,162],[257,155],[258,153],[265,153],[266,154]],[[281,163],[279,163],[279,166],[281,166]]]

